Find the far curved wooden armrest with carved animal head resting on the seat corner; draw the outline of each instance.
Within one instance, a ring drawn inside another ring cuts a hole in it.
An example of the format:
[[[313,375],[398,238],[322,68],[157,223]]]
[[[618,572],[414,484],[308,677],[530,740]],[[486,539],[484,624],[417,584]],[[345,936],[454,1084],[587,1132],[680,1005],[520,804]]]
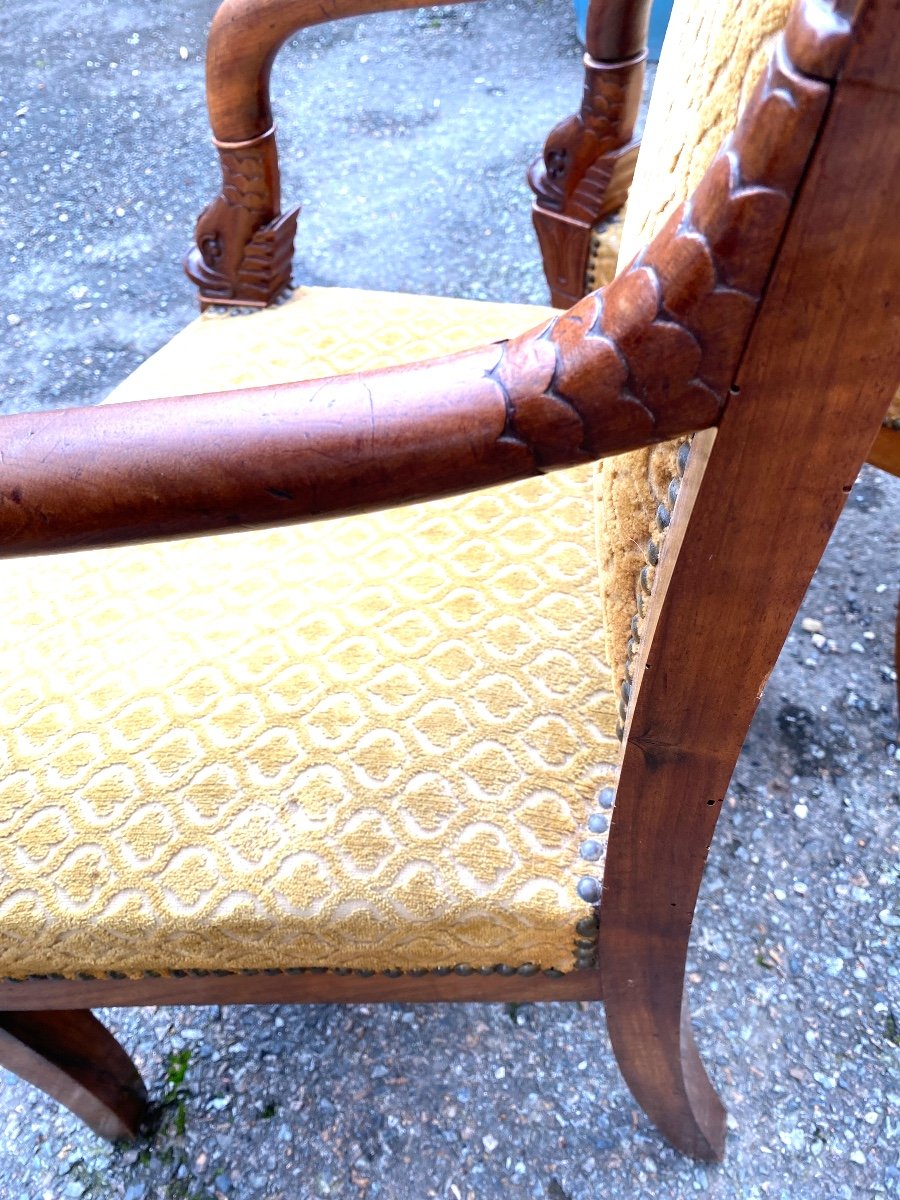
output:
[[[200,308],[263,308],[290,283],[299,208],[281,211],[272,64],[301,29],[342,17],[421,8],[446,0],[224,0],[206,48],[206,103],[222,188],[200,214],[185,271]],[[450,0],[458,4],[461,0]]]

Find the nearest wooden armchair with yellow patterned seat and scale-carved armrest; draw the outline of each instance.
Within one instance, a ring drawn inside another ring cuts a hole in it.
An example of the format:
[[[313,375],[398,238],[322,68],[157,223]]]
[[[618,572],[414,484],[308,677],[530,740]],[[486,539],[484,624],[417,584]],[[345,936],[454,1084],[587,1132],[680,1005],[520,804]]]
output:
[[[301,290],[0,421],[0,1062],[119,1136],[145,1096],[91,1006],[602,998],[652,1120],[721,1156],[686,946],[896,390],[898,16],[794,7],[690,199],[565,313]],[[268,72],[320,19],[220,10],[204,304],[288,281]],[[607,653],[590,464],[672,439]]]

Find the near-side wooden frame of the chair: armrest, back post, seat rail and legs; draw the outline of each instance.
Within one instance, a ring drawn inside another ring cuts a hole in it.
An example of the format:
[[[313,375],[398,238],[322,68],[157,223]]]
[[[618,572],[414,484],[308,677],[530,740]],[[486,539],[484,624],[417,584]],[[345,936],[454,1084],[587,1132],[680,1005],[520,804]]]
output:
[[[0,419],[4,554],[402,503],[703,431],[629,702],[602,988],[596,967],[527,966],[5,982],[0,1063],[109,1135],[137,1127],[142,1085],[94,1004],[602,994],[638,1102],[680,1150],[721,1156],[683,1001],[688,937],[748,725],[896,389],[900,156],[883,131],[900,128],[899,18],[900,0],[800,2],[695,196],[608,288],[530,335],[407,371]],[[277,44],[253,42],[257,83]],[[257,107],[265,120],[268,94]]]

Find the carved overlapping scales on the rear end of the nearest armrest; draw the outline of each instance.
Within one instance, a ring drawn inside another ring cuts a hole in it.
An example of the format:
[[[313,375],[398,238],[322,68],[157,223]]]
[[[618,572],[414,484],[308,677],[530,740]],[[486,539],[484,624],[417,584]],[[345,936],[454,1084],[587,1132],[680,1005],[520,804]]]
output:
[[[827,96],[781,43],[733,136],[656,239],[553,320],[542,352],[524,338],[509,343],[494,372],[508,397],[506,436],[539,468],[594,456],[612,428],[637,446],[715,424]],[[526,359],[540,362],[546,386],[517,400]],[[547,424],[553,438],[538,442]]]

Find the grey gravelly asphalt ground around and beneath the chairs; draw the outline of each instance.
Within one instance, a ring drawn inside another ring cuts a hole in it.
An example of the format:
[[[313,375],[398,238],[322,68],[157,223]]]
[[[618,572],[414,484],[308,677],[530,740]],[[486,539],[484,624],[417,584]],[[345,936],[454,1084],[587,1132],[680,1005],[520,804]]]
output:
[[[0,12],[7,409],[100,400],[193,316],[214,8]],[[542,301],[522,170],[578,90],[563,0],[298,38],[275,80],[298,276]],[[2,1075],[0,1200],[900,1194],[898,511],[898,481],[865,470],[713,846],[690,985],[722,1166],[660,1142],[596,1006],[119,1009],[155,1134],[108,1147]]]

